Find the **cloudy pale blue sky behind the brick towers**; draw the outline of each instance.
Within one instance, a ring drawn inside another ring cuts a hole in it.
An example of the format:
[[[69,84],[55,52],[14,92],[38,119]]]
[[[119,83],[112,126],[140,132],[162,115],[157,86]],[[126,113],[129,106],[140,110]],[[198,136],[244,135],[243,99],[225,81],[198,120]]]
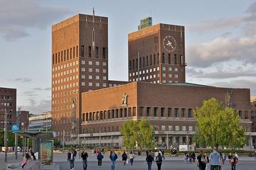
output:
[[[186,81],[256,95],[256,0],[0,0],[0,86],[17,108],[50,111],[51,26],[76,13],[109,18],[109,78],[128,81],[127,36],[141,18],[185,26]]]

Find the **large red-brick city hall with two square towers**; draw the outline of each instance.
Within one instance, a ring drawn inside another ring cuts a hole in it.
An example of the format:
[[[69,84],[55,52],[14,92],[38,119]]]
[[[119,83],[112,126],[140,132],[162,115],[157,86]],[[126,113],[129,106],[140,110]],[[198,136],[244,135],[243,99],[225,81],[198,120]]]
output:
[[[128,84],[108,80],[107,24],[93,13],[52,27],[52,130],[61,142],[122,147],[122,123],[146,118],[158,145],[186,144],[193,109],[215,97],[238,111],[251,147],[250,89],[186,83],[183,26],[148,20],[128,35]]]

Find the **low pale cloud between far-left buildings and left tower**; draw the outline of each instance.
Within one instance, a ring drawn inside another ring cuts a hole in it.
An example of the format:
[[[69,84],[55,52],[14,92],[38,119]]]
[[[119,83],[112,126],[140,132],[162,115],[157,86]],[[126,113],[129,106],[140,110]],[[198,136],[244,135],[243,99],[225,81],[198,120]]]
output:
[[[27,106],[18,106],[21,107],[22,110],[29,111],[29,113],[33,114],[41,114],[46,111],[50,111],[50,100],[41,100],[36,101],[36,99],[30,98],[28,99],[29,104]]]

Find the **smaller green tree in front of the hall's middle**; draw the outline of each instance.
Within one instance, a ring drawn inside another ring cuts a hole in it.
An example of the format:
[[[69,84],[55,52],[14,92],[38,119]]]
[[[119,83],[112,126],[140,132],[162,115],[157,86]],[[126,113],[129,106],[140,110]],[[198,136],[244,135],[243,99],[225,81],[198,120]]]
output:
[[[128,120],[121,127],[124,147],[133,148],[138,145],[139,148],[154,147],[154,127],[148,120],[142,118],[134,121]]]

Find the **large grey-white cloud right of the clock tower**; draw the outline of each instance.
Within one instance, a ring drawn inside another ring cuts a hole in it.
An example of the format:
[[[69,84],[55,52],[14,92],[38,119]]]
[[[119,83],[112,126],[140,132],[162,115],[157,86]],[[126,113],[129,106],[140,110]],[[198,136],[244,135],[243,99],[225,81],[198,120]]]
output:
[[[228,60],[255,64],[255,54],[256,40],[253,38],[215,38],[210,42],[188,46],[186,60],[191,67],[210,67]]]

